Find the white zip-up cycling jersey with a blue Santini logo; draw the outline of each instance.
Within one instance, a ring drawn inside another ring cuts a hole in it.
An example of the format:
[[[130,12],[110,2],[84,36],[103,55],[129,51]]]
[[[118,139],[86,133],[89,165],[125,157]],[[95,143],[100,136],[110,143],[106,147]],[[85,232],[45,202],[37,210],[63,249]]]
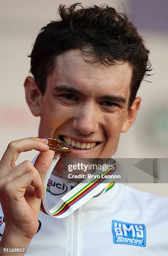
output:
[[[50,180],[47,202],[52,207],[73,185],[53,175]],[[0,237],[4,221],[0,207]],[[40,212],[26,255],[168,255],[168,198],[116,183],[65,218]]]

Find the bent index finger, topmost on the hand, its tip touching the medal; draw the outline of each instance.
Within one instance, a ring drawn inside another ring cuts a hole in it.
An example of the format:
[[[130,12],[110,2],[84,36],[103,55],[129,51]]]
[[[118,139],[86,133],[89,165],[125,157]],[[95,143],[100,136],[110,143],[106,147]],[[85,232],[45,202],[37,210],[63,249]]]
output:
[[[18,159],[20,152],[30,151],[33,149],[46,152],[49,149],[46,143],[48,143],[48,140],[46,139],[33,137],[10,142],[0,161],[0,168],[2,168],[4,172],[3,176],[15,167],[14,164]]]

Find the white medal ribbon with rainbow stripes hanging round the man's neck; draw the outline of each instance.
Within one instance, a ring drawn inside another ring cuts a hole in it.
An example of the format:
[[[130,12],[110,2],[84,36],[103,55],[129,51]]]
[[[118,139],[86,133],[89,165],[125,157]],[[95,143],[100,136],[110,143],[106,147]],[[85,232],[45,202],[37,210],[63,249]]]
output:
[[[38,155],[37,155],[38,156]],[[33,159],[33,164],[36,161],[36,158]],[[51,166],[49,167],[46,176],[44,178],[44,190],[45,194],[43,195],[43,198],[41,200],[41,207],[40,210],[50,216],[53,216],[55,218],[64,218],[68,215],[70,215],[74,210],[78,209],[81,205],[89,201],[92,197],[97,195],[99,192],[101,192],[105,187],[107,187],[106,191],[109,190],[113,185],[114,182],[105,183],[107,182],[107,178],[104,177],[105,175],[111,175],[113,172],[115,172],[115,169],[107,169],[105,172],[102,172],[100,177],[93,179],[90,181],[90,179],[85,179],[80,184],[76,185],[73,189],[71,189],[66,195],[61,197],[58,203],[49,210],[46,202],[46,188],[48,179],[51,175],[51,172],[53,171],[53,168],[55,167],[56,163],[59,161],[60,154],[55,154],[54,159],[51,163]],[[115,161],[114,161],[115,164]],[[108,185],[108,186],[107,186]]]

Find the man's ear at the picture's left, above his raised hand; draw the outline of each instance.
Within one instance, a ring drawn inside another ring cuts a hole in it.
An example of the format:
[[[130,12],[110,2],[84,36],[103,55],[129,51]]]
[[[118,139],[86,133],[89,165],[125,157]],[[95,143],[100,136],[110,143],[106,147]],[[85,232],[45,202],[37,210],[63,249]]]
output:
[[[26,77],[24,82],[25,99],[34,116],[42,113],[42,94],[33,77]]]

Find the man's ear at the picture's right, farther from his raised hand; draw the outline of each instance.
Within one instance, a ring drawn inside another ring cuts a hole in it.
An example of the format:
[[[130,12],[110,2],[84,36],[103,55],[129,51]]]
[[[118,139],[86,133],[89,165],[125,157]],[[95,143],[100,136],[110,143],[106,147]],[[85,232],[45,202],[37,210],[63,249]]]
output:
[[[126,131],[128,131],[128,129],[131,127],[131,125],[135,122],[137,112],[140,108],[140,102],[141,102],[140,97],[135,98],[134,102],[132,103],[131,107],[129,108],[129,110],[127,112],[127,118],[124,122],[124,125],[122,126],[122,130],[121,130],[122,133],[125,133]]]

